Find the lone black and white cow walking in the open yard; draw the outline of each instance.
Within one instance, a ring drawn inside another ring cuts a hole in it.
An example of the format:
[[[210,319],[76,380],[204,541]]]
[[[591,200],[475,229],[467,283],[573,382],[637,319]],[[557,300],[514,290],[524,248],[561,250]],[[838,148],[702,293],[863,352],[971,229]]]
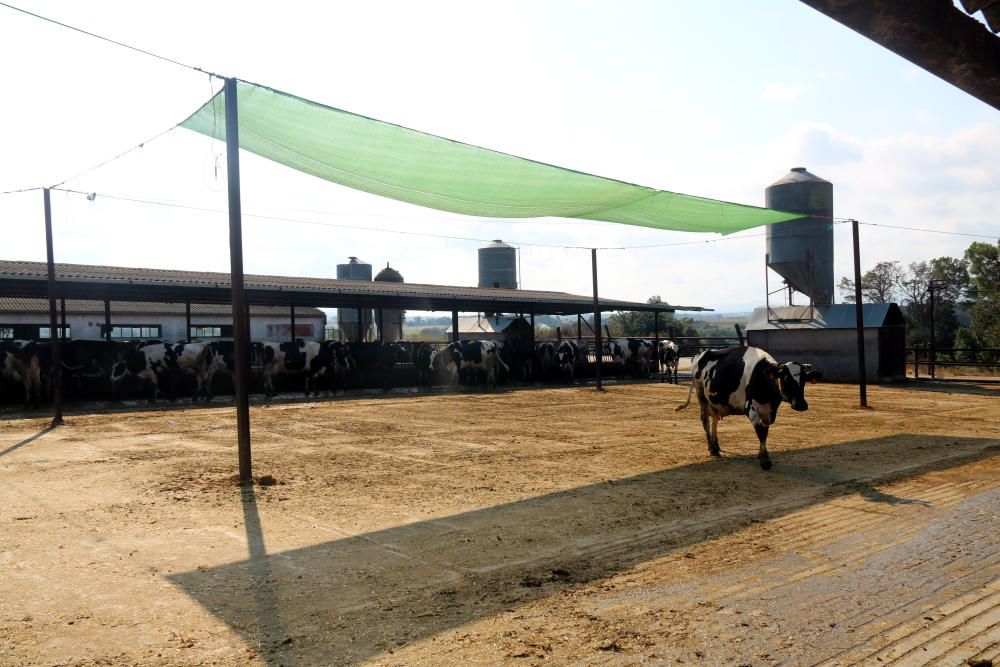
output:
[[[767,430],[778,416],[778,406],[785,401],[792,410],[807,410],[805,383],[822,377],[809,364],[778,363],[757,347],[706,350],[692,360],[691,369],[694,377],[687,402],[677,409],[686,408],[691,403],[691,392],[697,390],[708,453],[720,456],[719,420],[744,414],[757,432],[760,441],[757,459],[764,470],[771,468]]]

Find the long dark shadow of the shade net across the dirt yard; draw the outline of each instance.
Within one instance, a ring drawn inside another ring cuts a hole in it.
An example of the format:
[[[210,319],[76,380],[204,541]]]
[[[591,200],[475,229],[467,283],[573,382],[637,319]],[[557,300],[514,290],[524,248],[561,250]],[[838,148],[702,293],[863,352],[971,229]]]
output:
[[[920,511],[875,486],[998,451],[904,434],[778,453],[770,473],[727,457],[272,554],[246,490],[248,560],[170,580],[268,664],[356,663],[831,498]]]

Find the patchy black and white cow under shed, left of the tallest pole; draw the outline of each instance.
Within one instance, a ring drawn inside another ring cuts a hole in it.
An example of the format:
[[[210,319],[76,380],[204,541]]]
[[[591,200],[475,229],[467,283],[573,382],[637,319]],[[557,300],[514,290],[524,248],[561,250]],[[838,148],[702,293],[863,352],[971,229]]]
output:
[[[212,353],[207,343],[144,343],[138,349],[128,350],[123,358],[111,367],[112,395],[117,396],[118,384],[127,376],[138,378],[152,386],[150,402],[160,393],[161,376],[173,380],[180,374],[191,374],[197,382],[194,400],[198,396],[209,398],[207,380],[210,378]],[[173,383],[170,383],[171,393]]]

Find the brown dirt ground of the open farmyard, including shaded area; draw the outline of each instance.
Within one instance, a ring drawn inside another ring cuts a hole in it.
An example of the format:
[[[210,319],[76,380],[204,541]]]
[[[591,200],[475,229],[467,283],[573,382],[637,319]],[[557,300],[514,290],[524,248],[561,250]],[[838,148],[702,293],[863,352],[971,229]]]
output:
[[[991,664],[1000,387],[669,384],[0,419],[0,664]]]

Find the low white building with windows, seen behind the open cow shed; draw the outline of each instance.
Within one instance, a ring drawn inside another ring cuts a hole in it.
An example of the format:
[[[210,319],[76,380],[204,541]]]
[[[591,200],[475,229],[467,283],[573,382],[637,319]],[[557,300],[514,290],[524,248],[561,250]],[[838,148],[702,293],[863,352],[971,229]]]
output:
[[[68,299],[66,335],[70,340],[165,340],[231,338],[233,313],[228,304],[191,304],[190,328],[183,303],[110,302],[110,330],[104,302]],[[0,298],[0,339],[50,338],[46,299]],[[323,340],[326,314],[316,308],[296,308],[295,337]],[[250,336],[255,340],[288,340],[292,324],[288,308],[250,307]]]

